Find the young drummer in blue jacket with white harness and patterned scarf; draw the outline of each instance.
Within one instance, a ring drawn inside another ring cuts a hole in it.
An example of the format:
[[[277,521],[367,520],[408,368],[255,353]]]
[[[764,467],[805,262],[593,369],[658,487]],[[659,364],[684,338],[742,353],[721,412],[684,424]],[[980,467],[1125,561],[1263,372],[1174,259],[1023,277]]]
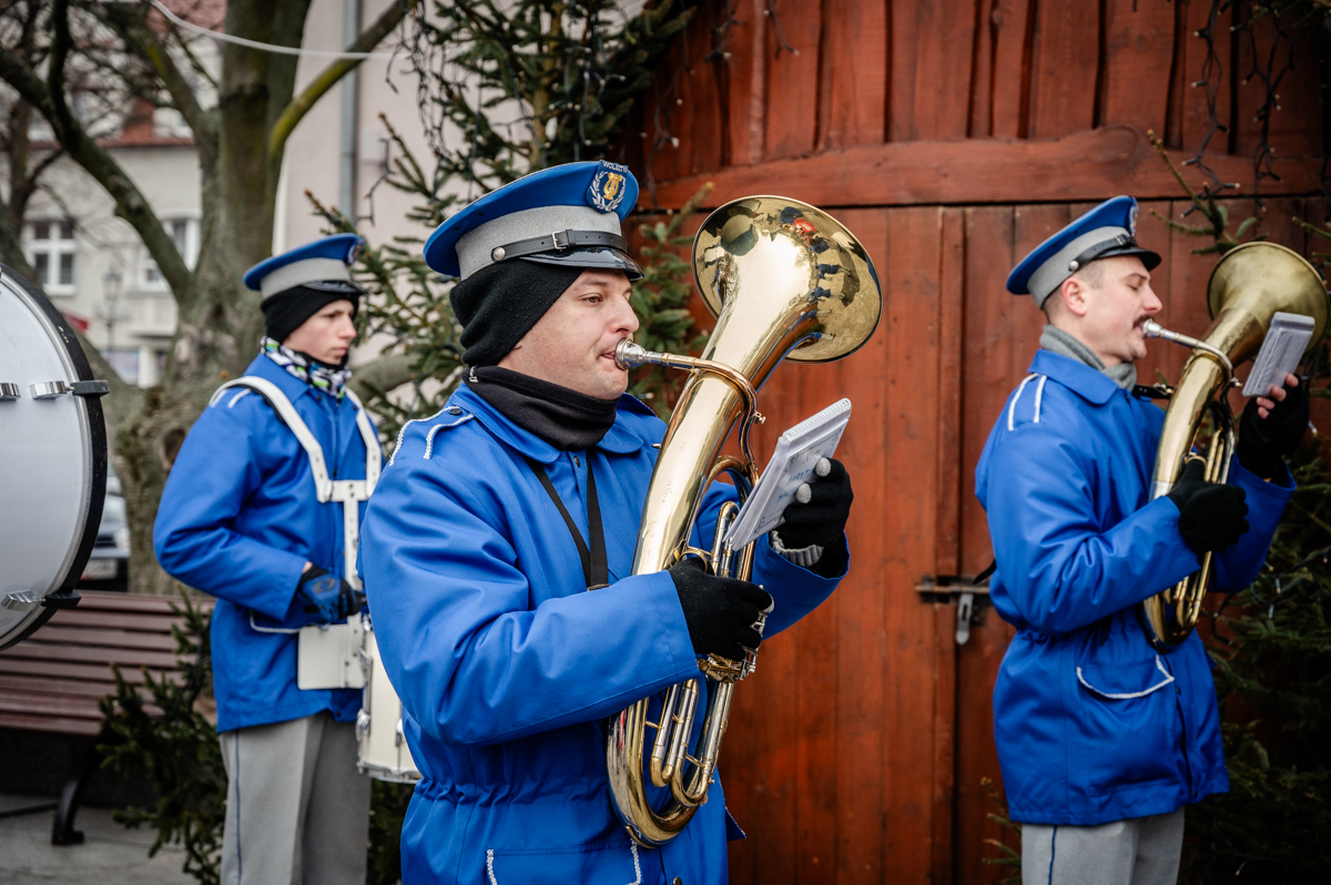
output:
[[[218,390],[190,429],[153,527],[162,567],[217,596],[224,885],[365,881],[361,692],[297,685],[298,629],[359,618],[363,599],[345,508],[363,515],[382,454],[346,389],[359,245],[354,234],[327,237],[245,274],[264,295],[266,337],[245,378]]]

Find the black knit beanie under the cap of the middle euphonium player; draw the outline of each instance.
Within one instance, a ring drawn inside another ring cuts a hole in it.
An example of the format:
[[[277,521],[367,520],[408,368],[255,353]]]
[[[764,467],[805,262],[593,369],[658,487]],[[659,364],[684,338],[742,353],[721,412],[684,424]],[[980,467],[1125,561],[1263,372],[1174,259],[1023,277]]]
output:
[[[471,274],[449,294],[462,323],[462,362],[496,366],[546,315],[583,267],[508,261]]]

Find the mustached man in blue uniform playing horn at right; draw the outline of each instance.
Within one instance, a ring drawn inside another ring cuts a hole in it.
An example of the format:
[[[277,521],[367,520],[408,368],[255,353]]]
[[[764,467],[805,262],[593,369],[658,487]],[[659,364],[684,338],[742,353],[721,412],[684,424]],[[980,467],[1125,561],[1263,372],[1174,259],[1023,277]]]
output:
[[[1017,627],[994,688],[994,737],[1025,882],[1173,882],[1183,806],[1229,789],[1210,661],[1195,633],[1158,653],[1139,603],[1215,552],[1217,588],[1256,576],[1292,494],[1282,460],[1307,427],[1306,387],[1248,403],[1230,484],[1190,467],[1154,500],[1165,413],[1135,386],[1161,310],[1137,202],[1101,204],[1008,278],[1049,318],[976,468]]]

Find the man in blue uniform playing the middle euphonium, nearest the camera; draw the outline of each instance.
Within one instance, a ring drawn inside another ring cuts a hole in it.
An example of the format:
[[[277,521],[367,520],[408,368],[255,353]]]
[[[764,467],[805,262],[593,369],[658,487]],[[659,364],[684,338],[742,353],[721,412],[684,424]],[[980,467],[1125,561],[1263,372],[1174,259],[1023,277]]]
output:
[[[753,584],[685,564],[631,574],[664,431],[614,359],[638,329],[640,270],[620,236],[636,194],[623,166],[555,166],[426,245],[431,267],[462,278],[469,371],[439,414],[403,429],[362,544],[423,775],[402,830],[407,885],[724,882],[740,833],[721,784],[680,836],[642,848],[611,808],[602,720],[697,677],[699,655],[741,657],[772,600],[768,637],[845,574],[852,495],[835,462],[759,543]],[[695,543],[711,546],[723,488]]]

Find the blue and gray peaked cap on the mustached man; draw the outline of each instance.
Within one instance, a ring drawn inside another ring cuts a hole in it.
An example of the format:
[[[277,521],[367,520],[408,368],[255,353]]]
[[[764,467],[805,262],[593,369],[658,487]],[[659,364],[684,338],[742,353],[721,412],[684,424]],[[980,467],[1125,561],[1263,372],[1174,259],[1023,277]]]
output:
[[[1008,277],[1008,291],[1032,295],[1041,309],[1063,281],[1099,258],[1138,256],[1147,270],[1161,257],[1137,245],[1137,201],[1114,197],[1071,222],[1021,260]]]

